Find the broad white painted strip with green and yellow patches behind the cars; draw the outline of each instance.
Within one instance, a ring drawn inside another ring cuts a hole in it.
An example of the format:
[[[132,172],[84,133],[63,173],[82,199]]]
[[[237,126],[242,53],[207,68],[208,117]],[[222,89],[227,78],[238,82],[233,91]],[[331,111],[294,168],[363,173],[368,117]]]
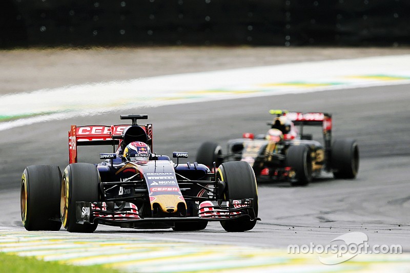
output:
[[[327,60],[100,82],[0,96],[0,131],[109,111],[410,83],[410,55]],[[18,106],[18,107],[17,107]],[[39,116],[38,116],[39,115]]]

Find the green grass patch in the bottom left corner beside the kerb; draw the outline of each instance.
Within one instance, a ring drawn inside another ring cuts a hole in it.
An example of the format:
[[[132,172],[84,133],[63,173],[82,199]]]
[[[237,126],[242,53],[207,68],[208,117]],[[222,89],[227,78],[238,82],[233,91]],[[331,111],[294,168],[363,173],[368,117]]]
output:
[[[119,272],[100,265],[74,266],[58,262],[44,262],[32,257],[19,257],[0,253],[0,271],[2,272],[64,272],[64,273],[109,273]]]

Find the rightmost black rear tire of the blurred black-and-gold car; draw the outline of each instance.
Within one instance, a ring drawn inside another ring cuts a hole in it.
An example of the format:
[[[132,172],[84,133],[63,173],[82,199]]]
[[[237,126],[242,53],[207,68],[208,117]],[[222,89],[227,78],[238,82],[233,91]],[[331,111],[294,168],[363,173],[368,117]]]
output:
[[[333,142],[332,169],[335,178],[356,178],[359,171],[359,146],[355,139],[337,139]]]

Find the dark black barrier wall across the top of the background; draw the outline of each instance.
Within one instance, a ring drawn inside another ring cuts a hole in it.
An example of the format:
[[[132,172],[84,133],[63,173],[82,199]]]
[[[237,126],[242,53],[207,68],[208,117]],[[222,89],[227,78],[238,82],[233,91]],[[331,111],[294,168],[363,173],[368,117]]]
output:
[[[0,47],[410,44],[408,0],[0,0]]]

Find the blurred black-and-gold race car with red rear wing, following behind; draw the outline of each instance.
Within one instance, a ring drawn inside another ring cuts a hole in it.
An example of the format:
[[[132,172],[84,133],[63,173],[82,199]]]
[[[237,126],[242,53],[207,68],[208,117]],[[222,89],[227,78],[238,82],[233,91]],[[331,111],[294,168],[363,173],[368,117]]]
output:
[[[204,142],[197,162],[216,166],[227,161],[245,161],[254,169],[258,181],[289,181],[305,185],[322,171],[335,178],[353,179],[359,169],[359,148],[354,139],[337,139],[332,143],[332,115],[270,110],[274,120],[268,122],[267,134],[244,133],[228,141],[228,153],[214,142]],[[298,126],[299,125],[299,126]],[[303,134],[304,126],[319,126],[323,144]],[[298,129],[299,127],[299,129]]]

